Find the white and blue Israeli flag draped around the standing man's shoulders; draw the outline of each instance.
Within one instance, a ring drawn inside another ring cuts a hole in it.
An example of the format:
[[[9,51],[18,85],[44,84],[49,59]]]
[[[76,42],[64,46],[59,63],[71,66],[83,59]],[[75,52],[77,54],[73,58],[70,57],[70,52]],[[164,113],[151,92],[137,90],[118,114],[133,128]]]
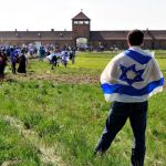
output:
[[[164,76],[153,54],[132,46],[106,65],[101,83],[107,102],[144,102],[162,92]]]

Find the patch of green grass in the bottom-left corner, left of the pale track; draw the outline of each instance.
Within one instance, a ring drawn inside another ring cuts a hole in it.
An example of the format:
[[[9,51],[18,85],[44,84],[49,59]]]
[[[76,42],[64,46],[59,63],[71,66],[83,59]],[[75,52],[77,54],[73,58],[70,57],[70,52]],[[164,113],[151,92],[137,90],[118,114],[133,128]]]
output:
[[[0,165],[3,162],[37,166],[40,164],[40,158],[35,147],[18,135],[14,127],[0,120]]]

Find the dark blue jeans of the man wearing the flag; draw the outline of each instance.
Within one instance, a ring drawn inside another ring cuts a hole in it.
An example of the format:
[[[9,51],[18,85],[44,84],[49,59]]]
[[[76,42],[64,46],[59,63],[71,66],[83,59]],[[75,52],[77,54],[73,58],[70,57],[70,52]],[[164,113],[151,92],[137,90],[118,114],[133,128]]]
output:
[[[145,131],[147,122],[147,101],[141,103],[114,102],[106,118],[104,132],[95,151],[102,153],[107,151],[116,134],[125,125],[127,118],[129,118],[134,134],[131,163],[132,166],[143,166],[146,151]]]

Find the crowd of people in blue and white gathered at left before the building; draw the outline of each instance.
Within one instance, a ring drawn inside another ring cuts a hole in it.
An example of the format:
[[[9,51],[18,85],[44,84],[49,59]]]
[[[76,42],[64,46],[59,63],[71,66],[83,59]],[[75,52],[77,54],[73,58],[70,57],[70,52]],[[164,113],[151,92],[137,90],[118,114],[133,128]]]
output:
[[[34,45],[0,45],[0,80],[4,77],[4,68],[8,62],[11,63],[11,71],[13,74],[27,73],[28,58],[39,58],[43,61],[46,58],[51,64],[51,69],[59,66],[62,63],[68,66],[69,60],[74,64],[75,48],[63,46],[60,49],[58,45],[40,45],[39,49]],[[18,69],[17,69],[17,63]]]

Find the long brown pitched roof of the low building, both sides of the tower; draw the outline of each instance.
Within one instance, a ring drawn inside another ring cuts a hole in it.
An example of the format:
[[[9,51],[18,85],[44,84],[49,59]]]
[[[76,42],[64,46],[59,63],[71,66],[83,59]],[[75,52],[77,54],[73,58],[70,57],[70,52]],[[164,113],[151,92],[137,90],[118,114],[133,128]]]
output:
[[[143,31],[145,40],[166,40],[166,30]],[[73,40],[72,31],[0,31],[2,40]],[[126,40],[128,31],[91,31],[91,41]]]

